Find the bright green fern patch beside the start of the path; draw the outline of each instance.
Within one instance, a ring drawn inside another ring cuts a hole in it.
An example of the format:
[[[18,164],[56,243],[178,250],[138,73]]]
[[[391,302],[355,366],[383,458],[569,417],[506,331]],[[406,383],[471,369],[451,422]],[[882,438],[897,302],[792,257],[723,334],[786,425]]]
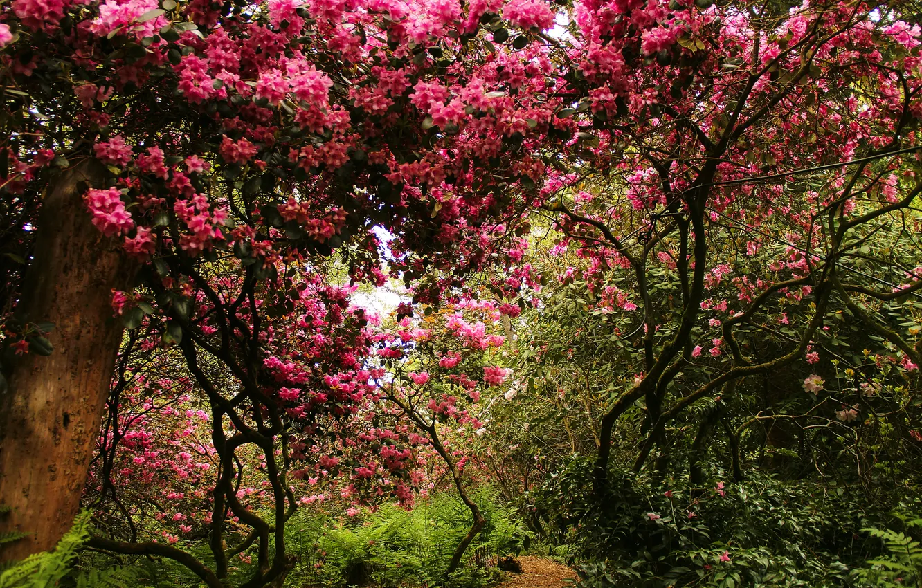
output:
[[[489,487],[473,492],[486,524],[467,548],[464,565],[448,585],[484,586],[499,580],[496,559],[528,547],[528,535],[512,508]],[[292,586],[435,586],[443,580],[455,546],[472,523],[454,493],[420,501],[412,511],[384,506],[376,512],[325,517],[301,512],[290,524],[290,552],[299,562]]]

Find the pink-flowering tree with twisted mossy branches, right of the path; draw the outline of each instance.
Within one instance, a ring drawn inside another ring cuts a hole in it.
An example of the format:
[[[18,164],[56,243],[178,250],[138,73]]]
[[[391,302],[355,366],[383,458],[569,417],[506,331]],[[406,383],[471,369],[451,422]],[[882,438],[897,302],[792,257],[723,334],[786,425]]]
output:
[[[590,295],[573,304],[604,315],[627,363],[623,384],[600,382],[611,401],[598,491],[616,422],[636,402],[639,468],[690,406],[815,361],[835,345],[836,313],[881,337],[907,372],[919,359],[917,329],[878,313],[903,301],[897,312],[910,316],[922,285],[911,8],[698,7],[613,2],[575,14],[584,44],[570,84],[586,97],[574,115],[591,122],[573,171],[548,184],[570,188],[544,207],[561,248],[585,259],[582,275],[561,276]]]

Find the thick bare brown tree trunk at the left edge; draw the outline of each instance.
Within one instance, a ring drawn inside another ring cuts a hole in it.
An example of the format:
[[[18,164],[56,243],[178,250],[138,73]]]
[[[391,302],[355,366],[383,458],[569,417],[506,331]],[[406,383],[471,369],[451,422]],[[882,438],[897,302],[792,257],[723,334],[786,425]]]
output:
[[[133,264],[115,239],[92,226],[82,195],[106,170],[86,160],[48,187],[35,253],[16,315],[50,322],[53,353],[27,353],[5,365],[0,395],[0,533],[29,533],[0,547],[0,561],[48,550],[79,509],[89,459],[109,392],[122,325],[112,288],[124,289]]]

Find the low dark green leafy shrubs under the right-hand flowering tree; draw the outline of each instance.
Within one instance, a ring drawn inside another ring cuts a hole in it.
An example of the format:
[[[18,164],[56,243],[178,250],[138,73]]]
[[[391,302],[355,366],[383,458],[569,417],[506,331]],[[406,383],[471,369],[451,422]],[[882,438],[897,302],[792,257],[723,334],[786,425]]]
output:
[[[894,570],[916,578],[922,551],[908,533],[869,529],[892,517],[859,488],[715,474],[692,488],[687,476],[654,483],[613,471],[599,501],[591,464],[573,459],[532,498],[552,538],[582,562],[585,588],[917,585],[879,580]]]

